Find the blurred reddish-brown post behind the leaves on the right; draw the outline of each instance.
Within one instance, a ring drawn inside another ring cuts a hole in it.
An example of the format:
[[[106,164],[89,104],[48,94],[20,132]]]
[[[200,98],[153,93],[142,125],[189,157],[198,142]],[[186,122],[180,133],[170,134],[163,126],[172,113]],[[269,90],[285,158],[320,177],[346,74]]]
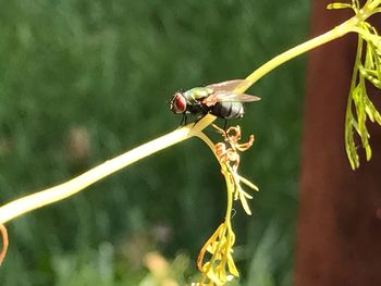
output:
[[[312,1],[312,36],[351,15],[327,11],[329,2]],[[308,55],[295,286],[381,285],[381,127],[368,125],[373,158],[367,163],[359,148],[359,170],[344,148],[356,40],[348,35]]]

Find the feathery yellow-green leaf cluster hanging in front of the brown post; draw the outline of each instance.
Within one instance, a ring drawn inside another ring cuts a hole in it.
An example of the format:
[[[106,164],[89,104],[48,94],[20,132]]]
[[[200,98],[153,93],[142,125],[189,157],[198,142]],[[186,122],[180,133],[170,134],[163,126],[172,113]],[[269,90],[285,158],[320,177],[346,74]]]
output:
[[[353,0],[351,4],[332,3],[328,7],[329,9],[352,9],[355,12],[352,21],[355,22],[353,32],[358,34],[356,60],[345,115],[345,149],[352,169],[357,169],[360,164],[354,134],[359,135],[361,147],[369,161],[371,148],[370,135],[366,126],[367,119],[381,125],[381,115],[367,91],[367,84],[381,88],[381,37],[377,29],[366,21],[369,16],[381,12],[379,2],[368,1],[361,8],[358,0]]]

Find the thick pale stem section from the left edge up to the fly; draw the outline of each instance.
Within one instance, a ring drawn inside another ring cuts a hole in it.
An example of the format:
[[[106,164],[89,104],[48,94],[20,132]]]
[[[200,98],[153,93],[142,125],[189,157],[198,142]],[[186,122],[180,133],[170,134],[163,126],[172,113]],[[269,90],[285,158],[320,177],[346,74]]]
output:
[[[106,161],[105,163],[61,185],[9,202],[0,208],[0,225],[26,212],[73,196],[87,186],[143,158],[196,136],[214,120],[216,117],[212,115],[204,116],[197,124],[190,123],[187,126],[140,145],[139,147]]]

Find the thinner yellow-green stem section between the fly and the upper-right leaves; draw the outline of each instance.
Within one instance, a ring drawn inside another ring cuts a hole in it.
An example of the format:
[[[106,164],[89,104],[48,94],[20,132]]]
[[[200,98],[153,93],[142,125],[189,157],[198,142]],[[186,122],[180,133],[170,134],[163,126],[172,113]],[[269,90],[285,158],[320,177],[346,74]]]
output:
[[[271,59],[270,61],[261,65],[259,69],[254,71],[249,76],[247,76],[245,80],[239,86],[237,86],[237,88],[234,91],[236,91],[237,94],[245,92],[251,85],[258,82],[258,79],[260,79],[262,76],[265,76],[275,67],[280,66],[281,64],[290,61],[293,58],[296,58],[299,54],[303,54],[309,50],[322,46],[329,41],[337,39],[349,32],[353,32],[353,28],[356,26],[357,22],[357,17],[354,16],[344,22],[343,24],[336,26],[335,28],[276,55],[275,58]]]

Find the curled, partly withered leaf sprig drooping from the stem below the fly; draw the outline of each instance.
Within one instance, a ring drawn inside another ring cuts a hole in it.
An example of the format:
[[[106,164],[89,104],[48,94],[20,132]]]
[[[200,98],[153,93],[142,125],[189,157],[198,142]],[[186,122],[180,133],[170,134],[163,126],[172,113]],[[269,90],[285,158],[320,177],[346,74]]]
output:
[[[195,285],[208,285],[208,283],[211,285],[213,283],[223,285],[233,279],[233,277],[239,276],[233,259],[233,245],[235,243],[231,222],[233,200],[239,200],[245,212],[251,214],[247,199],[251,199],[253,197],[242,188],[241,183],[253,190],[258,190],[256,185],[238,174],[239,152],[246,151],[253,146],[254,136],[251,135],[247,142],[241,144],[239,126],[230,127],[228,130],[223,130],[217,125],[213,125],[213,127],[222,135],[223,142],[218,142],[213,146],[210,139],[204,134],[200,134],[199,137],[213,150],[220,163],[221,173],[226,182],[228,206],[224,221],[199,252],[197,266],[202,273],[202,278],[200,283]],[[210,258],[205,262],[206,253]]]

